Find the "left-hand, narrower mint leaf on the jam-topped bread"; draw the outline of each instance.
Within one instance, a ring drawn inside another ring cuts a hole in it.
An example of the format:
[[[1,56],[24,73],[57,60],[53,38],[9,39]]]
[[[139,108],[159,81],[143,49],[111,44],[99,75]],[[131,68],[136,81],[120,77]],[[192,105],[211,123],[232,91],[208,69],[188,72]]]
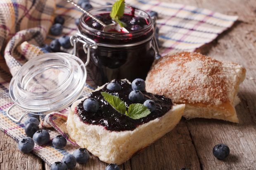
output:
[[[126,113],[126,105],[119,97],[111,95],[107,92],[101,92],[101,95],[114,109],[116,109],[117,112],[121,114]]]

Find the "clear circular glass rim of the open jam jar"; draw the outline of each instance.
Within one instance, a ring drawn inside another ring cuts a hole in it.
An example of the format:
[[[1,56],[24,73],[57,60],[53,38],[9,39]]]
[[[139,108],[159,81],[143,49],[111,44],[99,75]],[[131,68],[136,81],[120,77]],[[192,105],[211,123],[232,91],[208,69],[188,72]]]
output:
[[[97,10],[97,9],[104,9],[104,8],[107,8],[107,7],[112,7],[112,5],[106,5],[106,6],[101,6],[101,7],[95,7],[95,8],[89,9],[88,12],[92,12],[93,10]],[[133,8],[133,7],[127,7],[127,6],[126,6],[125,9],[131,9],[131,8]],[[150,16],[149,14],[147,14],[147,12],[145,12],[145,11],[143,11],[143,10],[141,10],[141,9],[135,8],[135,11],[137,11],[137,12],[143,12],[144,14],[147,15],[147,18],[149,19],[149,24],[148,24],[145,28],[142,28],[141,30],[137,30],[137,31],[133,31],[133,32],[132,32],[133,36],[136,37],[136,34],[137,34],[137,33],[142,33],[142,32],[144,32],[144,31],[146,31],[147,29],[152,28],[152,26],[153,26],[153,19],[151,18],[151,16]],[[110,13],[110,11],[106,11],[106,12],[109,12],[109,13]],[[100,35],[103,35],[103,36],[104,36],[104,35],[111,35],[112,37],[113,37],[113,36],[129,36],[129,35],[131,34],[131,33],[109,33],[109,32],[104,32],[104,31],[102,31],[102,30],[94,29],[94,28],[88,26],[88,25],[85,23],[84,19],[85,19],[86,16],[87,16],[87,15],[84,13],[84,14],[82,14],[81,17],[80,17],[80,23],[81,23],[81,25],[83,26],[83,28],[85,28],[86,30],[89,30],[89,31],[92,31],[92,32],[99,32]]]

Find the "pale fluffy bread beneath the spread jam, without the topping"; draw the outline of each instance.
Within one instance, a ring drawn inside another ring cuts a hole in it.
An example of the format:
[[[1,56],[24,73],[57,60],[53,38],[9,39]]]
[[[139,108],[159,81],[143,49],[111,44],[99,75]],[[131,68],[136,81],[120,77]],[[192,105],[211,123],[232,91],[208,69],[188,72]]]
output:
[[[97,90],[99,90],[98,88]],[[163,116],[137,126],[134,130],[110,131],[104,126],[81,121],[76,106],[85,98],[77,100],[69,108],[66,129],[69,137],[106,163],[122,164],[137,151],[171,131],[180,121],[185,105],[174,104]]]

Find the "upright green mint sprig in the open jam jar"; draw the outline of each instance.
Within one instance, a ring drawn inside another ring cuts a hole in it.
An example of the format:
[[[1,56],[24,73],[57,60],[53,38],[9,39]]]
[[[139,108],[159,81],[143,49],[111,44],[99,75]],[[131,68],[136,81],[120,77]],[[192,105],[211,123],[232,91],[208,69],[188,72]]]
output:
[[[120,21],[121,17],[124,14],[125,7],[126,6],[124,0],[118,0],[113,4],[110,12],[111,19],[116,21],[116,23],[119,23],[121,27],[126,27],[126,23]]]

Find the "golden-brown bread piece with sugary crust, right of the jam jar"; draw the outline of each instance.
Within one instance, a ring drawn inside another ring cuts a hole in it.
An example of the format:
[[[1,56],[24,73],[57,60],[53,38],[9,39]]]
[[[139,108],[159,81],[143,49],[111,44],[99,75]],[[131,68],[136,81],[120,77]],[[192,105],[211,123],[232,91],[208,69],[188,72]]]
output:
[[[245,68],[199,53],[181,52],[154,61],[146,78],[146,90],[186,104],[184,117],[214,118],[238,122],[239,84]]]

